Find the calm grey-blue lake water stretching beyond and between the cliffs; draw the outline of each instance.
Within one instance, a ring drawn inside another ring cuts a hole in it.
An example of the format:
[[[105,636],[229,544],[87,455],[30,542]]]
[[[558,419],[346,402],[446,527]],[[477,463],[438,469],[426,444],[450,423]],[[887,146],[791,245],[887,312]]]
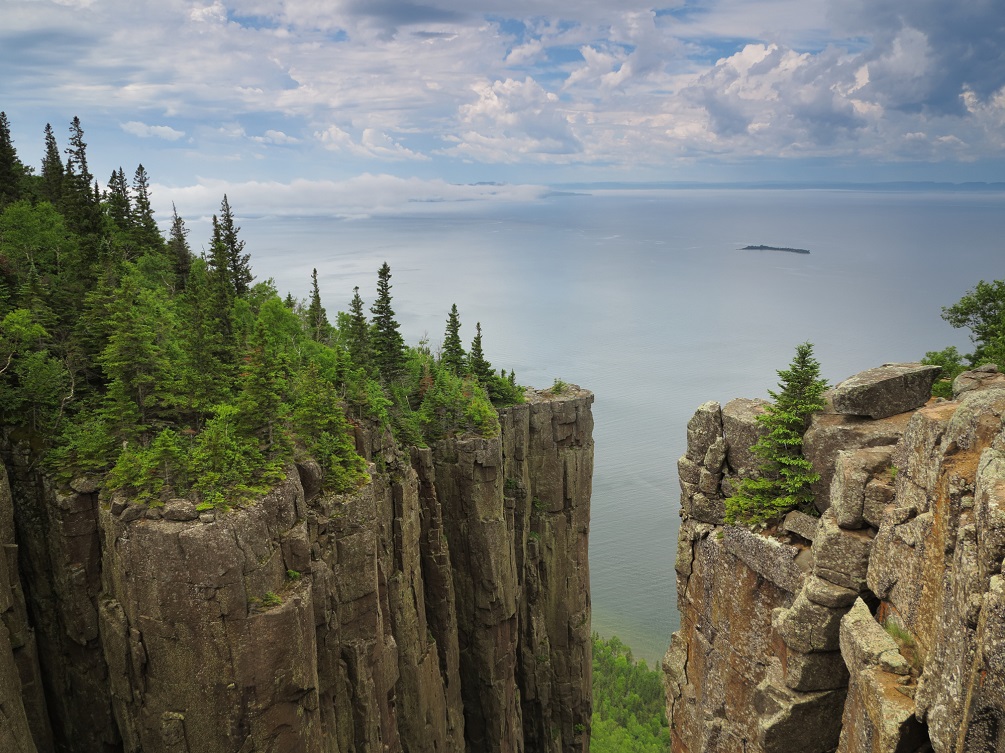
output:
[[[522,384],[594,391],[593,626],[652,664],[677,626],[675,462],[694,408],[767,397],[807,340],[831,382],[966,352],[940,310],[1005,276],[1003,208],[994,193],[651,190],[240,224],[280,294],[305,297],[318,268],[333,320],[354,286],[369,306],[387,260],[410,344],[438,344],[455,303],[462,339],[480,322]],[[739,250],[761,243],[812,252]]]

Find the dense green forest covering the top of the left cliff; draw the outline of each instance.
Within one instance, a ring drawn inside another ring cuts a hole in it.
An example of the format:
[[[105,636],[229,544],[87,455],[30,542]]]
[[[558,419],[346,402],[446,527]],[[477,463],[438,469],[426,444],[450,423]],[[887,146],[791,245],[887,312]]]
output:
[[[464,352],[456,307],[443,354],[405,346],[387,263],[370,318],[355,289],[332,324],[317,270],[308,301],[255,283],[227,196],[196,254],[177,211],[161,235],[142,165],[99,188],[75,118],[65,155],[47,126],[36,174],[0,114],[0,420],[61,475],[218,506],[311,455],[345,492],[367,478],[353,423],[417,444],[491,435],[493,403],[522,399],[480,325]]]

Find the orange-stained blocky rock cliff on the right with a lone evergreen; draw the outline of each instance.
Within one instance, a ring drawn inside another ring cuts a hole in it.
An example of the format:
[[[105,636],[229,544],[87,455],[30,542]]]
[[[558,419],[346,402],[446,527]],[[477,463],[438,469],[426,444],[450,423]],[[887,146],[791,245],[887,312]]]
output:
[[[1005,750],[1005,376],[929,400],[891,364],[838,385],[804,452],[819,519],[724,524],[761,401],[706,403],[678,463],[675,753]]]

